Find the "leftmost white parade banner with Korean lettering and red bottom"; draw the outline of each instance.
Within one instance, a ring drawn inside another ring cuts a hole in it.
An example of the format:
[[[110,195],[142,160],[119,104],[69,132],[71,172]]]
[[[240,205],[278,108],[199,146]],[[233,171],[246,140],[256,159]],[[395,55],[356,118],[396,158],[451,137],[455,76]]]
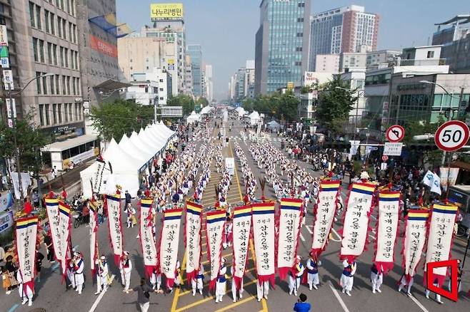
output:
[[[23,294],[21,296],[26,296],[27,288],[34,292],[37,233],[37,217],[16,220],[16,255],[23,278]]]

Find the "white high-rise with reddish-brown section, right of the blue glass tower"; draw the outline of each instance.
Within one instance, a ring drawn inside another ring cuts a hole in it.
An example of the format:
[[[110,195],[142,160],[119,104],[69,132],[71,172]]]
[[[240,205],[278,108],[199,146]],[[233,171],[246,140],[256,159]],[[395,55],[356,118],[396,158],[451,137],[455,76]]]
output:
[[[309,68],[316,68],[316,55],[377,49],[379,16],[365,13],[364,6],[344,6],[311,16]]]

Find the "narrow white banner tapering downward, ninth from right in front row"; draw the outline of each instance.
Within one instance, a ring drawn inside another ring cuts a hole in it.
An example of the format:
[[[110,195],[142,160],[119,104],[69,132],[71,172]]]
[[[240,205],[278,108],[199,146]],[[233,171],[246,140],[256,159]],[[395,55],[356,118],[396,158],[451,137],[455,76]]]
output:
[[[209,290],[216,286],[216,279],[219,275],[222,236],[225,229],[226,211],[216,210],[208,212],[206,215],[206,236],[207,236],[207,258],[211,264],[211,279],[209,281]]]

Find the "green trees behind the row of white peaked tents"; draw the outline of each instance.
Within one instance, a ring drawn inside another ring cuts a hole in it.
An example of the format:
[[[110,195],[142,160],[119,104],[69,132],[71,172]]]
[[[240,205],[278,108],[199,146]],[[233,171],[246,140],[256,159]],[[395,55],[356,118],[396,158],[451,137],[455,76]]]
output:
[[[104,140],[120,140],[154,120],[153,106],[142,106],[131,100],[99,103],[91,108],[90,120]]]

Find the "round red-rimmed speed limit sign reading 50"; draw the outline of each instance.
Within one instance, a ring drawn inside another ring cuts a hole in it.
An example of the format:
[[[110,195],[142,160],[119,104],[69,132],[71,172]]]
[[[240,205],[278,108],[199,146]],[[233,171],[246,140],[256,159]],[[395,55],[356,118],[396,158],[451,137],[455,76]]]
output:
[[[454,152],[466,145],[469,140],[469,127],[460,120],[451,120],[437,129],[434,142],[439,150]]]

